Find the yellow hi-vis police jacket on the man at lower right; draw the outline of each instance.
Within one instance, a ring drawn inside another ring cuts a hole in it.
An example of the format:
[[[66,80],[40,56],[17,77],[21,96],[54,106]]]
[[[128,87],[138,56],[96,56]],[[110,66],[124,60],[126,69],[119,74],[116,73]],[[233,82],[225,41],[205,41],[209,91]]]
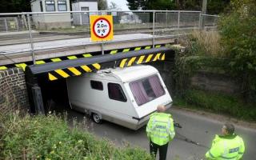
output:
[[[206,153],[206,158],[238,160],[242,158],[244,151],[244,142],[238,135],[234,134],[229,137],[216,135],[210,150]]]

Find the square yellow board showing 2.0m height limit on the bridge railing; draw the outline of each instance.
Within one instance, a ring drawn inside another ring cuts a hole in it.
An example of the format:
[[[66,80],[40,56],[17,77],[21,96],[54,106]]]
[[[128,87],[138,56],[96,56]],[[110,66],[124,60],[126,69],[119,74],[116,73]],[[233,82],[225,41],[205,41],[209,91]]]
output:
[[[90,16],[90,38],[94,42],[113,39],[113,18],[111,15]]]

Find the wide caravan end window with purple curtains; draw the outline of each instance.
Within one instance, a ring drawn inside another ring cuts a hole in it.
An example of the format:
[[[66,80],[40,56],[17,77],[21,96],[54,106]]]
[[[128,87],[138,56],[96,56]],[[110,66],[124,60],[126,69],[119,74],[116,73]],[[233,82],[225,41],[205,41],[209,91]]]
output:
[[[134,99],[138,106],[166,94],[158,75],[130,82],[130,90],[134,94]]]

